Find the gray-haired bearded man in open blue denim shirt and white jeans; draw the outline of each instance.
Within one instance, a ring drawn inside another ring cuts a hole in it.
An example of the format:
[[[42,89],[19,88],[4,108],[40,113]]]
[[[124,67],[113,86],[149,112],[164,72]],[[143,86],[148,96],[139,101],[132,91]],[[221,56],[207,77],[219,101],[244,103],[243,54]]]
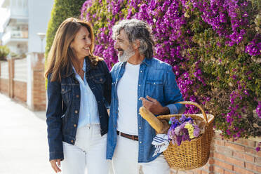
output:
[[[172,67],[153,58],[149,26],[140,20],[123,20],[113,27],[119,62],[112,68],[112,104],[107,135],[107,159],[115,174],[170,173],[163,154],[154,154],[156,133],[142,119],[139,108],[153,114],[178,114],[182,95]]]

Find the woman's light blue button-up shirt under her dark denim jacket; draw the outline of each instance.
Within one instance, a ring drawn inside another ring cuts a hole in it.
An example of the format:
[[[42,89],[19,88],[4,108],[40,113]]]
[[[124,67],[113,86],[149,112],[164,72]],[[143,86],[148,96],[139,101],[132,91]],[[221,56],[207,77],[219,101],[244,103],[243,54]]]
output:
[[[74,67],[72,67],[74,69]],[[83,71],[86,71],[86,61],[83,62]],[[75,77],[79,81],[81,91],[81,105],[79,112],[78,128],[86,126],[88,124],[100,124],[98,105],[93,91],[89,87],[86,81],[86,73],[84,73],[83,79],[76,73]]]

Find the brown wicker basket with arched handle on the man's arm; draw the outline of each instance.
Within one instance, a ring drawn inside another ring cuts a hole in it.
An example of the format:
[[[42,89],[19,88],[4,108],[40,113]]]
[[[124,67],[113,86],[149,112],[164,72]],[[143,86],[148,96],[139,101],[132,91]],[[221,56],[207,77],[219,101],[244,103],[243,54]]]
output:
[[[170,168],[176,170],[192,170],[194,168],[199,168],[206,164],[209,159],[210,154],[210,144],[213,137],[213,120],[214,116],[206,114],[201,106],[196,102],[178,102],[182,105],[194,105],[201,109],[202,114],[185,114],[185,116],[191,116],[193,119],[201,119],[206,121],[205,132],[199,135],[198,138],[192,139],[190,142],[182,142],[180,146],[173,145],[170,142],[168,149],[163,152],[166,161]],[[158,119],[167,119],[175,116],[177,119],[180,118],[182,114],[170,114],[158,116]]]

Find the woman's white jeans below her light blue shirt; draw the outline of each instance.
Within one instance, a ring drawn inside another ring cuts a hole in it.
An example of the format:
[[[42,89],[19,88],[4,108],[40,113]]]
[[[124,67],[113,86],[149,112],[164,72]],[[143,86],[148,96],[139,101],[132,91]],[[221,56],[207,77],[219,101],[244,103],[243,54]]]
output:
[[[61,162],[62,174],[107,174],[107,135],[100,135],[100,125],[77,129],[75,145],[62,142],[65,159]]]

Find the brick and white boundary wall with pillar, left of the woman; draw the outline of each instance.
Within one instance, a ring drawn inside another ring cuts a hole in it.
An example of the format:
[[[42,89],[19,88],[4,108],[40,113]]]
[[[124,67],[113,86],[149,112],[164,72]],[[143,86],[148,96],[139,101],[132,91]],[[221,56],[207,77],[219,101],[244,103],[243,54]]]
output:
[[[45,110],[44,53],[29,53],[27,59],[0,62],[0,92],[32,110]]]

